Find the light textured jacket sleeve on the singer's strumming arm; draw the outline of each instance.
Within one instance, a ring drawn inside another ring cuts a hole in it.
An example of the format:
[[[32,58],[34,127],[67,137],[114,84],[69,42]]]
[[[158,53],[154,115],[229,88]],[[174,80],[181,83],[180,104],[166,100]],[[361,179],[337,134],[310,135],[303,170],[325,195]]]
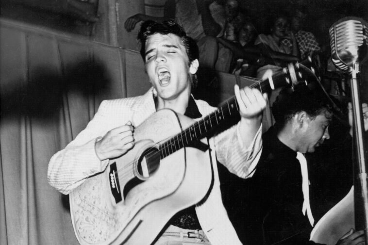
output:
[[[67,195],[81,185],[86,178],[104,171],[108,160],[100,161],[95,152],[95,142],[115,125],[113,113],[106,101],[102,101],[98,112],[67,147],[54,154],[48,167],[49,184]],[[122,122],[123,123],[123,122]]]

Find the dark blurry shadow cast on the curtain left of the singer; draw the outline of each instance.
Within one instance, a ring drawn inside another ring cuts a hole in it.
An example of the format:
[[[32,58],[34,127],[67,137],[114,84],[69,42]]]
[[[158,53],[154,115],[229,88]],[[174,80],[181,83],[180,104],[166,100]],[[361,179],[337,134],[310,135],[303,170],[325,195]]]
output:
[[[83,96],[103,93],[110,79],[102,64],[82,61],[56,74],[49,67],[37,67],[30,81],[15,81],[1,87],[1,117],[14,114],[49,119],[59,112],[62,96],[81,92]],[[14,86],[14,84],[19,84]],[[25,84],[21,86],[20,84]]]

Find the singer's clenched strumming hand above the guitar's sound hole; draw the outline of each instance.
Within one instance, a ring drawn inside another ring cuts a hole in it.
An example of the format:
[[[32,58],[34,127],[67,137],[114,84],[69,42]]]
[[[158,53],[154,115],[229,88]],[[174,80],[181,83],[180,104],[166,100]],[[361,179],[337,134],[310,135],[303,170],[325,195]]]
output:
[[[96,142],[96,154],[100,160],[112,159],[134,147],[134,127],[131,122],[108,131]]]

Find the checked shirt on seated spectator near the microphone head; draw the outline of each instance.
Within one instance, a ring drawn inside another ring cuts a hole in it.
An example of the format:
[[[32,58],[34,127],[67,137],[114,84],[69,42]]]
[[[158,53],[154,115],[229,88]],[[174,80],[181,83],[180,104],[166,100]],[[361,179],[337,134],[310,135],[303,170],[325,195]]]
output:
[[[299,46],[299,51],[302,60],[304,60],[311,53],[311,51],[321,50],[316,37],[310,32],[300,30],[298,33],[295,34],[295,38]],[[282,43],[288,47],[293,46],[291,41],[288,39],[284,39]]]

